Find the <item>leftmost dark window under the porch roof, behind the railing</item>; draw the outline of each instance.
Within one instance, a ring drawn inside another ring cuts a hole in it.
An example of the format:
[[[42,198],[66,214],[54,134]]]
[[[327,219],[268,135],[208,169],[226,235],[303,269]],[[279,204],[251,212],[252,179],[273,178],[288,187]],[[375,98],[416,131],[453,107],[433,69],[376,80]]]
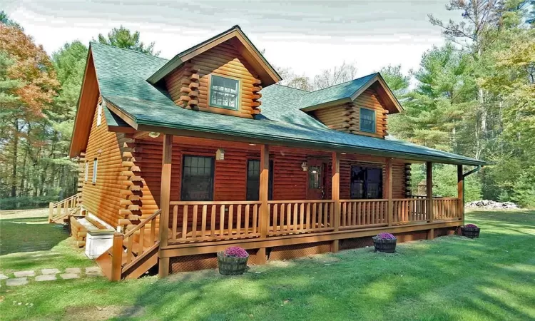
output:
[[[180,200],[213,200],[214,158],[184,156]]]

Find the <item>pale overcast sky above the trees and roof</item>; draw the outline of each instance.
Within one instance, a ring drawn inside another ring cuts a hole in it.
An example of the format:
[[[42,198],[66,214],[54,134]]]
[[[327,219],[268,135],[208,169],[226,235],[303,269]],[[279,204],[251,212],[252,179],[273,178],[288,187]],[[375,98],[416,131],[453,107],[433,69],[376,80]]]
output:
[[[422,53],[444,43],[427,14],[458,19],[447,0],[182,1],[0,0],[49,54],[66,41],[88,44],[121,24],[156,42],[164,58],[239,24],[277,67],[314,76],[342,62],[363,76],[388,64],[417,68]]]

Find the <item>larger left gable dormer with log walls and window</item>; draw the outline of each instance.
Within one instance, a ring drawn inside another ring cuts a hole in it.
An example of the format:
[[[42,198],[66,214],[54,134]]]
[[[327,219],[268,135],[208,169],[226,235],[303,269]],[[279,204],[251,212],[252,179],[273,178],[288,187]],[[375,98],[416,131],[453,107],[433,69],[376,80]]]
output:
[[[239,26],[175,56],[148,81],[162,82],[177,106],[252,118],[260,90],[280,81]]]

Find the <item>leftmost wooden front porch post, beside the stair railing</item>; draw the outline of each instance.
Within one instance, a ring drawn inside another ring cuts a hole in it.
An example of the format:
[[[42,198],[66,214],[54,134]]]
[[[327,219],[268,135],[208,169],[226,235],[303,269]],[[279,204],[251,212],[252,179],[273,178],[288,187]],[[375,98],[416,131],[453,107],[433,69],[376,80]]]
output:
[[[173,135],[163,136],[162,179],[160,188],[160,253],[158,276],[169,275],[169,258],[161,257],[161,248],[168,245],[169,202],[171,190],[171,163],[173,159]]]

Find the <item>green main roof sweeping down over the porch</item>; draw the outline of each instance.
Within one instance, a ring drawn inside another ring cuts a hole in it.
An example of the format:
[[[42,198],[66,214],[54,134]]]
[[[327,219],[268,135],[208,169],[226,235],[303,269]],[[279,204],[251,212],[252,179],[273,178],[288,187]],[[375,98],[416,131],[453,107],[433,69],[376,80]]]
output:
[[[138,125],[254,138],[282,145],[298,143],[303,147],[332,148],[420,161],[484,164],[483,161],[473,158],[404,141],[331,130],[306,113],[299,111],[299,106],[293,103],[296,101],[295,98],[304,96],[307,92],[285,86],[272,85],[263,88],[263,115],[258,119],[180,108],[173,103],[168,93],[146,81],[146,78],[161,68],[167,60],[103,44],[93,43],[91,50],[101,95],[106,101],[113,103],[123,113],[133,118]],[[342,88],[347,88],[345,86]],[[347,90],[352,91],[353,88]],[[337,91],[343,92],[341,88]],[[324,99],[327,99],[327,96]]]

